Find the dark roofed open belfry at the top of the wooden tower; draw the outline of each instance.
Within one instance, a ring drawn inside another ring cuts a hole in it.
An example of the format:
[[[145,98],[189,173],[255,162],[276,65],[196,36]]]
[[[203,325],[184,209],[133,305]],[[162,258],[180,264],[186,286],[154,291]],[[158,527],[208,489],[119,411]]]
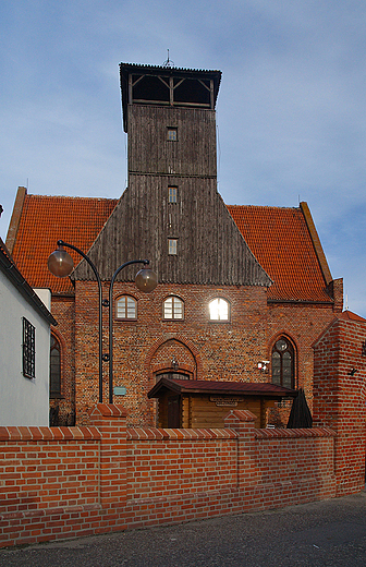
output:
[[[127,105],[163,105],[215,109],[221,71],[120,63],[123,128]]]

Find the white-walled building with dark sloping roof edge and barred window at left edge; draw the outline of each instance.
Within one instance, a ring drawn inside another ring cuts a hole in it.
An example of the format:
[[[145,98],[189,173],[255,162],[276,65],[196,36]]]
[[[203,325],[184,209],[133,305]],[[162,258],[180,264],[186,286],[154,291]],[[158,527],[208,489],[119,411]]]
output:
[[[48,425],[50,325],[0,239],[0,425]]]

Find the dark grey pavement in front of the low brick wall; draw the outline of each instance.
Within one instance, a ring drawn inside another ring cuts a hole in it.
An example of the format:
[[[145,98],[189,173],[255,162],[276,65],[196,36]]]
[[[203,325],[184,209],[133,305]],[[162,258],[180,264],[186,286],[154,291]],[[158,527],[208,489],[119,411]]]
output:
[[[278,510],[0,551],[0,567],[365,565],[365,491]]]

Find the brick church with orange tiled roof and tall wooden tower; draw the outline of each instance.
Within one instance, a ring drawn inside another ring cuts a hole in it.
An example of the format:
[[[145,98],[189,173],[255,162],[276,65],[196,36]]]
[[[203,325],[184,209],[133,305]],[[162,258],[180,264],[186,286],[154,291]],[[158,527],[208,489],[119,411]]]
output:
[[[125,388],[114,401],[127,409],[130,424],[158,424],[148,393],[161,377],[257,384],[257,399],[270,393],[269,419],[280,424],[291,405],[283,388],[303,388],[312,407],[313,346],[342,313],[342,279],[332,279],[306,203],[223,203],[219,71],[124,63],[120,71],[129,136],[121,198],[40,196],[20,188],[7,238],[28,282],[52,293],[50,396],[59,423],[74,417],[87,423],[98,400],[96,277],[74,252],[70,278],[48,272],[62,239],[95,264],[103,299],[124,262],[148,258],[158,276],[157,288],[143,293],[134,285],[139,268],[129,266],[113,288],[113,385]],[[102,340],[108,352],[107,307]],[[251,409],[253,397],[243,400]]]

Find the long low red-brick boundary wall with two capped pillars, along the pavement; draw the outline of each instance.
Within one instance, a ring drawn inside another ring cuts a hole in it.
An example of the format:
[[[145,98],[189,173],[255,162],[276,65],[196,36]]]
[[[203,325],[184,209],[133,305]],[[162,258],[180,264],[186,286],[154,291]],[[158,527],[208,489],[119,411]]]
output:
[[[0,429],[0,546],[173,523],[335,495],[334,432],[126,429],[99,403],[90,427]]]

